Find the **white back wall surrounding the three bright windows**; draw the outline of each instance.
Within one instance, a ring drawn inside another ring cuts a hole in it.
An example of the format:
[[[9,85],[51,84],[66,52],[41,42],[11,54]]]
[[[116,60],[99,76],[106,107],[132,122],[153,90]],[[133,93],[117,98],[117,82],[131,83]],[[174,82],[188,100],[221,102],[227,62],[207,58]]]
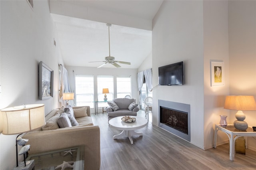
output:
[[[113,75],[116,76],[131,76],[131,97],[138,101],[138,85],[137,85],[137,69],[122,69],[122,68],[96,68],[96,67],[75,67],[65,65],[68,70],[68,79],[70,90],[74,92],[75,75],[94,75],[94,82],[97,80],[97,75]],[[73,72],[74,71],[74,72]],[[92,111],[93,112],[93,111]]]

